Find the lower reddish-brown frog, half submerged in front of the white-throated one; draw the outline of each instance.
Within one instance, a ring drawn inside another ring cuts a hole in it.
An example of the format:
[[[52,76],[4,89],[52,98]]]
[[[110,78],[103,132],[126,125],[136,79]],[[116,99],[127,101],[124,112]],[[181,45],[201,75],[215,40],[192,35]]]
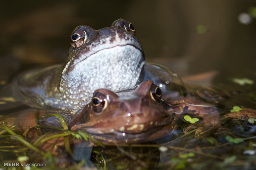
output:
[[[164,96],[152,80],[121,94],[107,89],[96,90],[92,101],[72,120],[69,128],[85,131],[109,145],[145,143],[163,138],[185,121],[185,115],[200,119],[198,133],[219,123],[219,110],[214,104],[192,94],[178,103],[165,100]]]

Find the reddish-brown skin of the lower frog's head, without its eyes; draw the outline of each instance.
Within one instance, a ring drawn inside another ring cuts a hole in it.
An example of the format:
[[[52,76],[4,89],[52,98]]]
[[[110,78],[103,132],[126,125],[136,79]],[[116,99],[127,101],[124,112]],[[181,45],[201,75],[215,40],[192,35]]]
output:
[[[92,102],[89,103],[69,126],[104,143],[141,143],[162,138],[177,127],[177,120],[173,110],[164,107],[164,101],[151,95],[154,87],[158,86],[147,80],[128,94],[96,90],[94,96],[98,93],[106,96],[108,106],[96,112]]]

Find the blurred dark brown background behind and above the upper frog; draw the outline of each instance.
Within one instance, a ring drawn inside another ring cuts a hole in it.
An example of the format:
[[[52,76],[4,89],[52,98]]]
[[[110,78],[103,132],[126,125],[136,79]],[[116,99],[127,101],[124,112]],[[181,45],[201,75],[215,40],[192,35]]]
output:
[[[255,80],[256,19],[247,25],[237,19],[251,7],[255,0],[5,1],[0,7],[2,79],[20,68],[65,60],[76,26],[100,29],[124,18],[135,26],[148,62],[181,76],[216,70],[218,82]]]

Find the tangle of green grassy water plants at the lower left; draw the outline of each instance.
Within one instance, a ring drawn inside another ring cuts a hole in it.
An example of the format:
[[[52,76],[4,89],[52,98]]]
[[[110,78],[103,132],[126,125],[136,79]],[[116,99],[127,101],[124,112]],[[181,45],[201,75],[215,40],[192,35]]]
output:
[[[62,117],[57,117],[60,119],[60,122],[63,122],[61,119]],[[6,146],[1,146],[0,147],[0,151],[1,152],[10,152],[10,153],[14,153],[17,154],[17,160],[19,162],[26,162],[26,161],[33,161],[34,158],[32,157],[28,157],[28,155],[30,155],[30,151],[33,150],[34,152],[39,153],[40,155],[43,156],[43,158],[45,160],[51,160],[50,164],[52,164],[53,166],[55,165],[55,158],[52,156],[52,149],[49,152],[45,152],[44,150],[41,150],[41,148],[39,147],[40,144],[43,144],[44,142],[47,142],[49,140],[52,139],[56,139],[55,142],[57,142],[57,140],[59,138],[63,138],[64,141],[64,147],[66,152],[68,152],[71,156],[73,156],[73,153],[71,151],[71,143],[69,142],[70,137],[73,136],[73,139],[76,138],[78,140],[85,140],[85,141],[92,141],[93,143],[97,144],[97,146],[101,146],[104,147],[102,145],[102,143],[98,142],[97,140],[95,140],[92,136],[88,135],[85,132],[72,132],[67,130],[65,127],[67,127],[66,124],[62,124],[63,128],[52,128],[52,127],[43,127],[43,126],[35,126],[32,128],[27,128],[24,132],[20,131],[18,129],[15,129],[15,126],[11,126],[8,127],[5,122],[2,122],[2,126],[0,126],[0,129],[2,129],[2,131],[0,131],[0,137],[5,137],[5,139],[1,139],[0,142],[4,142],[5,140],[9,140],[9,144],[7,144]],[[66,125],[66,126],[65,126]],[[56,129],[58,130],[58,132],[56,133],[45,133],[44,135],[39,136],[38,138],[36,138],[36,140],[34,142],[31,142],[27,137],[26,134],[33,129],[40,129],[40,128],[52,128],[52,129]],[[65,129],[64,129],[65,128]],[[18,141],[18,142],[15,142]],[[9,146],[10,144],[13,144],[11,146]],[[23,147],[21,147],[23,146]],[[36,160],[35,160],[36,161]]]

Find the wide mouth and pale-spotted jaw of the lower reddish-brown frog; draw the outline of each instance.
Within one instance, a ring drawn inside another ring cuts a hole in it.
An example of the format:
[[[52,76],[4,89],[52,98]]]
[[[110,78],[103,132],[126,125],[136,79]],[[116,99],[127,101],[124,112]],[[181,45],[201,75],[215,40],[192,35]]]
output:
[[[144,127],[142,128],[142,126]],[[177,118],[173,115],[173,117],[163,119],[161,123],[133,124],[116,129],[86,127],[80,130],[89,133],[93,138],[104,144],[135,144],[163,138],[176,128]]]

